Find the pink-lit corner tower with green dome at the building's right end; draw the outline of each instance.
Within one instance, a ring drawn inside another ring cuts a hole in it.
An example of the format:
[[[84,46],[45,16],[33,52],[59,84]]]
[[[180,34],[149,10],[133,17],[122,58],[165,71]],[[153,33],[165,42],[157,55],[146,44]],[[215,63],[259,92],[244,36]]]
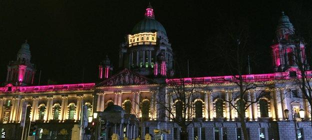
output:
[[[295,63],[295,44],[292,36],[295,36],[295,29],[289,20],[289,17],[282,11],[276,27],[276,38],[271,45],[273,65],[275,72],[296,71],[298,68]],[[300,59],[304,61],[305,51],[304,43],[299,42]],[[306,62],[306,61],[305,61]]]

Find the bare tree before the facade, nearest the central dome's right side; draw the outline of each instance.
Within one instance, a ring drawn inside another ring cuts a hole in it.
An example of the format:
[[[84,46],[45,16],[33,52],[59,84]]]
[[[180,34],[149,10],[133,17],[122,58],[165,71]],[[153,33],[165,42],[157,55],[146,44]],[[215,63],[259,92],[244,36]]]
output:
[[[180,139],[188,139],[187,126],[193,122],[193,101],[196,84],[185,83],[183,78],[167,79],[167,90],[164,97],[159,94],[156,103],[164,110],[167,120],[180,126]]]

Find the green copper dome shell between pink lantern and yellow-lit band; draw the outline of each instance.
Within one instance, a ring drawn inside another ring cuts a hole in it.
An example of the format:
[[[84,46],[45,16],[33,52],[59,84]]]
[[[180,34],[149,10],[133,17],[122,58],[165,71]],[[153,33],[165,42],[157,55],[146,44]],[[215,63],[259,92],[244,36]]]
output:
[[[139,21],[132,29],[132,34],[140,32],[155,32],[162,31],[167,34],[164,27],[160,22],[153,18],[145,17],[143,20]]]

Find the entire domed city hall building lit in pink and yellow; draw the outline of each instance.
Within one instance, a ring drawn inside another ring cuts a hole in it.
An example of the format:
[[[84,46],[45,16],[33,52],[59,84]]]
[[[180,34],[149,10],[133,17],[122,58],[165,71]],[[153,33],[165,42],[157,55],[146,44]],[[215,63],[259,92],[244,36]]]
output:
[[[296,45],[287,42],[294,27],[284,12],[267,46],[275,72],[179,78],[169,36],[154,12],[149,4],[127,33],[118,68],[107,55],[99,60],[99,82],[33,84],[38,72],[31,43],[22,43],[0,87],[5,138],[312,139],[309,98],[297,83],[302,69],[291,55]],[[304,42],[298,45],[302,64]],[[304,69],[309,79],[312,71]]]

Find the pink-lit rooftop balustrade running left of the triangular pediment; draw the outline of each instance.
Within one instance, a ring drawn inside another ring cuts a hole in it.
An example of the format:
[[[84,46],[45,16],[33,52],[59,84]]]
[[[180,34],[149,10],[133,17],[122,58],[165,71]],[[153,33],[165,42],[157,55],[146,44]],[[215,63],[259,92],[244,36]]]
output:
[[[92,89],[95,83],[77,83],[77,84],[58,84],[58,85],[40,85],[40,86],[5,86],[0,87],[0,92],[38,92],[38,91],[57,91],[57,90],[77,90]]]

